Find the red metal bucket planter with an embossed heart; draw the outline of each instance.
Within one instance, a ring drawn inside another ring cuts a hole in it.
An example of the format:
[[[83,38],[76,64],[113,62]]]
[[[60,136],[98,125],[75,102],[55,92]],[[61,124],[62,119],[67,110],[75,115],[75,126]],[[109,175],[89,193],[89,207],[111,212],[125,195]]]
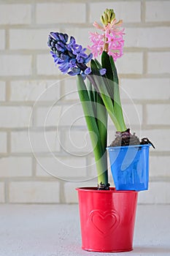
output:
[[[82,249],[128,252],[133,249],[138,192],[78,188]]]

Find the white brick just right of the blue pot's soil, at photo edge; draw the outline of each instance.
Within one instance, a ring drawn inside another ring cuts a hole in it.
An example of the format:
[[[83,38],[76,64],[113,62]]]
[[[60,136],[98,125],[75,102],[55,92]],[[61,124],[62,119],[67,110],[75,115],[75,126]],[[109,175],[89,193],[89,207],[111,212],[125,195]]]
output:
[[[149,138],[155,145],[156,151],[169,151],[169,129],[145,129],[138,134],[140,138]],[[155,151],[151,148],[151,151]]]

